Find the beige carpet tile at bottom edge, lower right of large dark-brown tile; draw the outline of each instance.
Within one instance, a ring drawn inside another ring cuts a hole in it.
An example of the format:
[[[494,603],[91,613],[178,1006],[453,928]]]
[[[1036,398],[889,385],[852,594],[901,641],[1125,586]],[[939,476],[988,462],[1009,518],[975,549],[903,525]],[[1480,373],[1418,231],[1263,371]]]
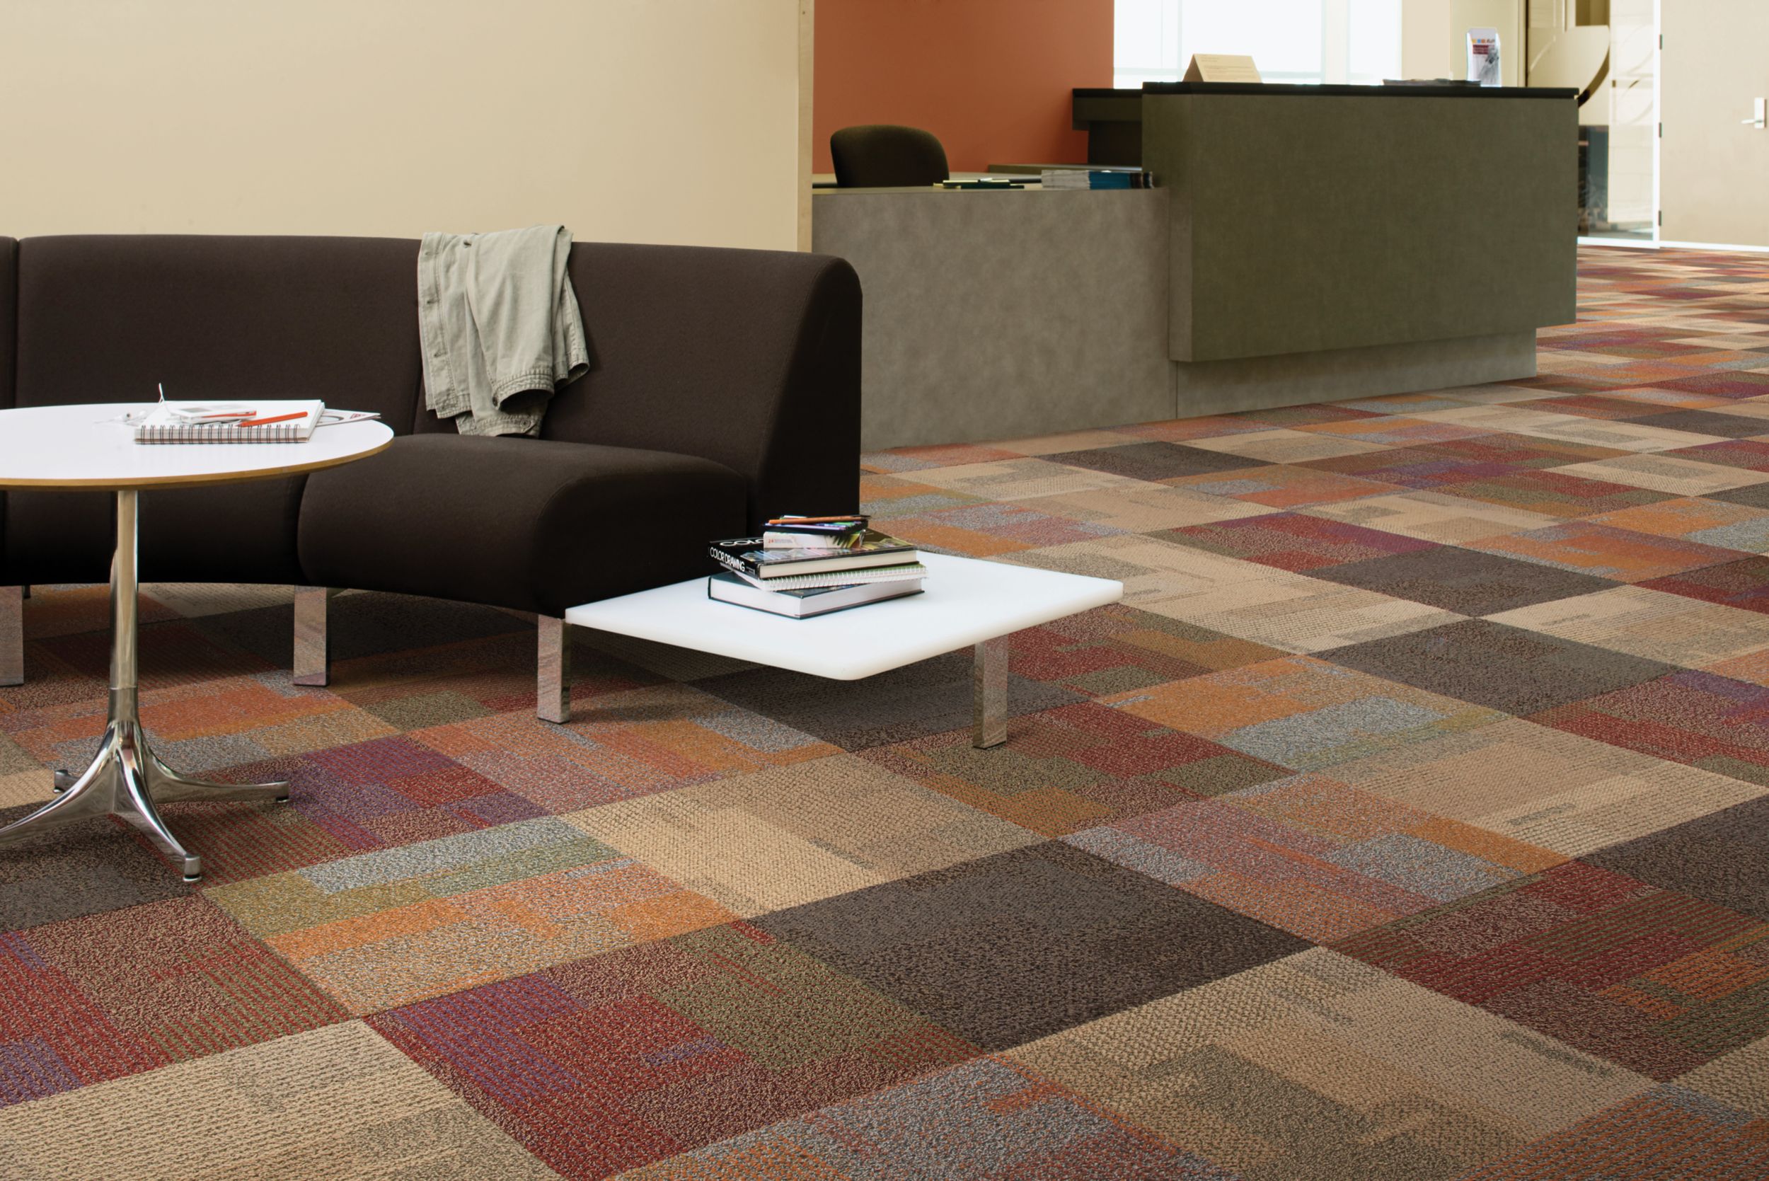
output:
[[[1010,1050],[1247,1181],[1436,1181],[1652,1086],[1325,948]]]

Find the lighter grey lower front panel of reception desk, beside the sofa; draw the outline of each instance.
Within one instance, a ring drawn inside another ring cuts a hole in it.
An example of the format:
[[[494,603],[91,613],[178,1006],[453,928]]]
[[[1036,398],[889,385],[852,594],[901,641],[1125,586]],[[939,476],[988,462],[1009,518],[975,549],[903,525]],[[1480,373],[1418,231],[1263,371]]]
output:
[[[1173,414],[1160,189],[817,193],[812,248],[860,274],[869,451]]]

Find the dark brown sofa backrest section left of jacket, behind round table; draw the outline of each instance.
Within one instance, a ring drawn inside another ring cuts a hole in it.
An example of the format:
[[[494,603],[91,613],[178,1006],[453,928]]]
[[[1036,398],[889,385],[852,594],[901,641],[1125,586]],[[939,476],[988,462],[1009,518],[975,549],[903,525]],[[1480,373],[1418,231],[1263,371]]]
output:
[[[417,242],[69,235],[18,244],[21,407],[324,398],[410,431]]]

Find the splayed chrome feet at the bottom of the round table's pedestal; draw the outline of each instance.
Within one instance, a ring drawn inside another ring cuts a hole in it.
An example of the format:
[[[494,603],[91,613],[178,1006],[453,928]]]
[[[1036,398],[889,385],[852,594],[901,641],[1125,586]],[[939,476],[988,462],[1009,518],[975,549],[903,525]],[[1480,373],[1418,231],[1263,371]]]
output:
[[[140,829],[159,852],[184,872],[186,882],[203,875],[203,859],[179,843],[156,803],[177,799],[288,799],[288,783],[209,783],[179,774],[154,753],[134,711],[134,693],[111,693],[110,725],[97,758],[83,774],[55,773],[55,799],[0,829],[0,845],[41,829],[87,817],[120,817]]]

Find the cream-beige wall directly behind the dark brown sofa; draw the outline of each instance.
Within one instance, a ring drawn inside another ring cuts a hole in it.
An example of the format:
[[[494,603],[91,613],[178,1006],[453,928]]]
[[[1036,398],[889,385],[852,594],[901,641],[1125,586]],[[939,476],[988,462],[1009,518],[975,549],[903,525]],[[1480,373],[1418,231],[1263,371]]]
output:
[[[563,221],[793,249],[800,23],[800,0],[0,0],[0,233]]]

